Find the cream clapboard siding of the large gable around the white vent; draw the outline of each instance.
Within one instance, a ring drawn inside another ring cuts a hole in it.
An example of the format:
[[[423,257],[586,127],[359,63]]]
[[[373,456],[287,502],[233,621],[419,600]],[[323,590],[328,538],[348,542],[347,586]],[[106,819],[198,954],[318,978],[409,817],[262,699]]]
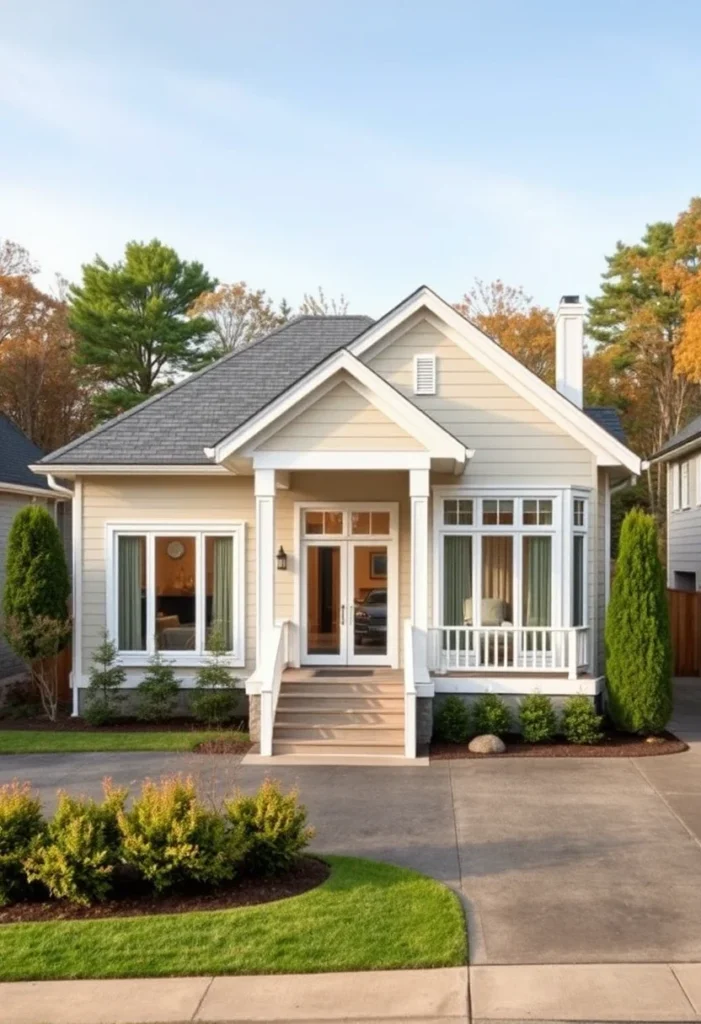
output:
[[[413,394],[413,359],[422,353],[436,356],[435,395]],[[377,355],[368,352],[367,361],[475,450],[466,471],[471,484],[596,485],[595,460],[586,449],[428,321],[417,324]]]

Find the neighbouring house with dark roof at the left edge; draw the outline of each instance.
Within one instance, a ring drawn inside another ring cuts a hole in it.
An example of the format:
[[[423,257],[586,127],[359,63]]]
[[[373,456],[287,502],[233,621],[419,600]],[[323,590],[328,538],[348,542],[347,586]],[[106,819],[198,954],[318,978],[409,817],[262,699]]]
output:
[[[46,475],[29,468],[44,453],[34,441],[0,413],[0,615],[5,587],[7,537],[14,516],[25,505],[45,505],[61,530],[67,554],[71,545],[71,494],[67,488],[52,489]],[[25,671],[25,664],[7,645],[0,632],[0,683]]]

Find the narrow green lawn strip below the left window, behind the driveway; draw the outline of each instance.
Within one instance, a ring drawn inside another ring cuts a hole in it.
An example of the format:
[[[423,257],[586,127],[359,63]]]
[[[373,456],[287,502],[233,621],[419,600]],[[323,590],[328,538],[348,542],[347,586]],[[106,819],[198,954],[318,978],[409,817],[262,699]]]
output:
[[[0,754],[94,754],[111,751],[191,751],[206,739],[240,739],[245,732],[50,732],[2,729]]]

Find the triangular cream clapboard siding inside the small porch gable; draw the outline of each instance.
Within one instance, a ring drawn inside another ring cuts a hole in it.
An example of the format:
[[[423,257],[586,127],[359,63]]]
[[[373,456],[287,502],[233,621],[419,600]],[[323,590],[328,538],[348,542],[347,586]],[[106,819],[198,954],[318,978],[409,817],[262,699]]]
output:
[[[414,437],[346,383],[294,417],[260,447],[273,452],[424,451]]]

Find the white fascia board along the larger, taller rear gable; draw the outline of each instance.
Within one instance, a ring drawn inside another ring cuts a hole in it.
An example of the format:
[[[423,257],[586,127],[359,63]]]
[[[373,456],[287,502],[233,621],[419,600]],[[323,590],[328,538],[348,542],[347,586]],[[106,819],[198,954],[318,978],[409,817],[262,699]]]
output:
[[[397,306],[391,314],[370,327],[349,345],[349,351],[356,356],[365,354],[388,334],[400,328],[404,321],[422,309],[428,309],[437,318],[439,323],[434,324],[434,327],[443,332],[447,328],[448,336],[456,345],[491,370],[522,397],[536,408],[543,409],[555,423],[584,444],[597,456],[599,465],[622,465],[637,476],[640,475],[641,460],[633,452],[612,437],[559,391],[527,370],[515,356],[497,345],[429,288],[420,289]]]

